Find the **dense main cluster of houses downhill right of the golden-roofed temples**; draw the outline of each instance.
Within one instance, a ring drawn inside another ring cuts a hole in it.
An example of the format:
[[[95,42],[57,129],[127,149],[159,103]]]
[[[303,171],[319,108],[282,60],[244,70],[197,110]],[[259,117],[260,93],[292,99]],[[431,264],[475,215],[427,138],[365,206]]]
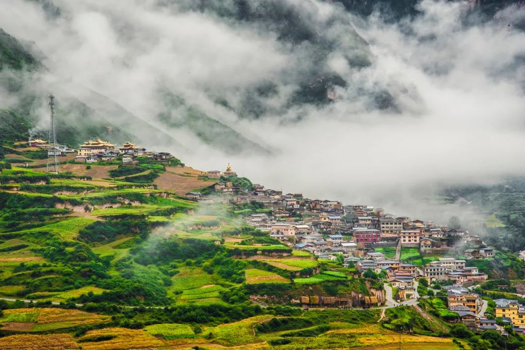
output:
[[[227,172],[232,174],[231,167],[228,166]],[[217,172],[217,177],[220,174],[224,173]],[[208,176],[214,175],[215,172],[208,172]],[[237,205],[259,203],[264,208],[261,210],[264,212],[250,213],[244,220],[268,232],[271,238],[321,259],[337,260],[343,256],[344,265],[355,266],[360,273],[372,270],[385,275],[386,282],[397,291],[398,302],[420,297],[417,293],[420,279],[429,283],[448,283],[443,287],[448,307],[459,315],[461,322],[473,331],[497,329],[504,332],[495,320],[484,317],[484,302],[480,295],[462,286],[464,282],[488,278],[478,267],[468,266],[470,260],[495,256],[495,251],[487,247],[479,235],[449,229],[447,225],[433,221],[395,217],[370,205],[311,200],[301,193],[283,194],[281,190],[265,189],[260,184],[254,184],[254,191],[250,193],[228,186],[230,184],[218,183],[216,190],[233,193],[230,202]],[[207,200],[198,192],[194,192],[192,199]],[[393,257],[385,256],[383,252],[387,249],[395,250]],[[417,250],[422,256],[435,259],[429,259],[432,261],[425,266],[405,263],[401,260],[403,249]],[[457,256],[463,256],[463,259]],[[512,305],[516,314],[525,315],[525,307]],[[503,314],[498,308],[496,312]],[[525,328],[521,319],[514,322],[512,317],[507,317],[504,320],[512,323],[518,332],[522,331],[520,327]]]

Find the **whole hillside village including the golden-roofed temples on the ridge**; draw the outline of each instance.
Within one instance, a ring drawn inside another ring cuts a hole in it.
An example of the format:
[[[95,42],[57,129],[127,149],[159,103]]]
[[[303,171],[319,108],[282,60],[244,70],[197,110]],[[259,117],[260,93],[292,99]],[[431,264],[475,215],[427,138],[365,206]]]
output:
[[[33,139],[28,145],[59,157],[70,155],[67,162],[85,163],[88,167],[118,162],[119,168],[125,168],[143,159],[175,159],[175,164],[180,163],[168,152],[148,151],[131,142],[116,146],[97,139],[86,141],[78,149],[66,145],[51,149],[46,141]],[[24,166],[30,167],[30,163]],[[518,300],[494,300],[494,318],[486,317],[488,301],[475,287],[487,281],[488,274],[480,271],[475,262],[493,259],[497,252],[478,234],[457,224],[449,227],[431,220],[397,216],[367,204],[348,205],[333,199],[309,199],[302,193],[283,194],[280,189],[241,180],[230,164],[224,171],[209,170],[196,176],[211,180],[212,184],[179,193],[187,200],[229,203],[245,224],[265,232],[269,239],[290,251],[311,254],[318,261],[340,263],[364,278],[381,279],[386,307],[416,305],[422,298],[435,295],[446,301],[448,311],[473,332],[497,330],[505,334],[508,324],[514,332],[525,330],[525,306]],[[279,254],[290,255],[286,251]],[[366,305],[382,303],[372,298]],[[341,307],[347,301],[339,296],[303,295],[295,302],[308,310]]]

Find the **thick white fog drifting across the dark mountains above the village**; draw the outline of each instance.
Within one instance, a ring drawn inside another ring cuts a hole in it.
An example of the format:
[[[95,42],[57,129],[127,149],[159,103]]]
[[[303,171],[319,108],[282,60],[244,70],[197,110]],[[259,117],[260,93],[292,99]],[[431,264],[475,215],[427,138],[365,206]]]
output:
[[[198,169],[224,170],[230,162],[269,188],[414,215],[430,215],[417,200],[438,184],[525,173],[522,8],[482,21],[468,2],[425,0],[415,18],[392,23],[377,14],[359,18],[337,2],[286,2],[312,33],[333,39],[322,67],[314,59],[319,47],[308,41],[282,40],[271,25],[183,0],[57,0],[59,16],[37,2],[4,0],[0,23],[36,45],[46,79],[97,91],[176,135],[188,150],[171,151]],[[356,55],[371,64],[352,65]],[[334,86],[327,104],[287,103],[315,69],[337,73],[346,86]],[[262,114],[241,118],[236,106],[245,92],[267,81],[277,92],[257,101]],[[161,88],[271,155],[229,156],[162,125],[153,117],[164,108]],[[391,105],[374,107],[384,91]]]

